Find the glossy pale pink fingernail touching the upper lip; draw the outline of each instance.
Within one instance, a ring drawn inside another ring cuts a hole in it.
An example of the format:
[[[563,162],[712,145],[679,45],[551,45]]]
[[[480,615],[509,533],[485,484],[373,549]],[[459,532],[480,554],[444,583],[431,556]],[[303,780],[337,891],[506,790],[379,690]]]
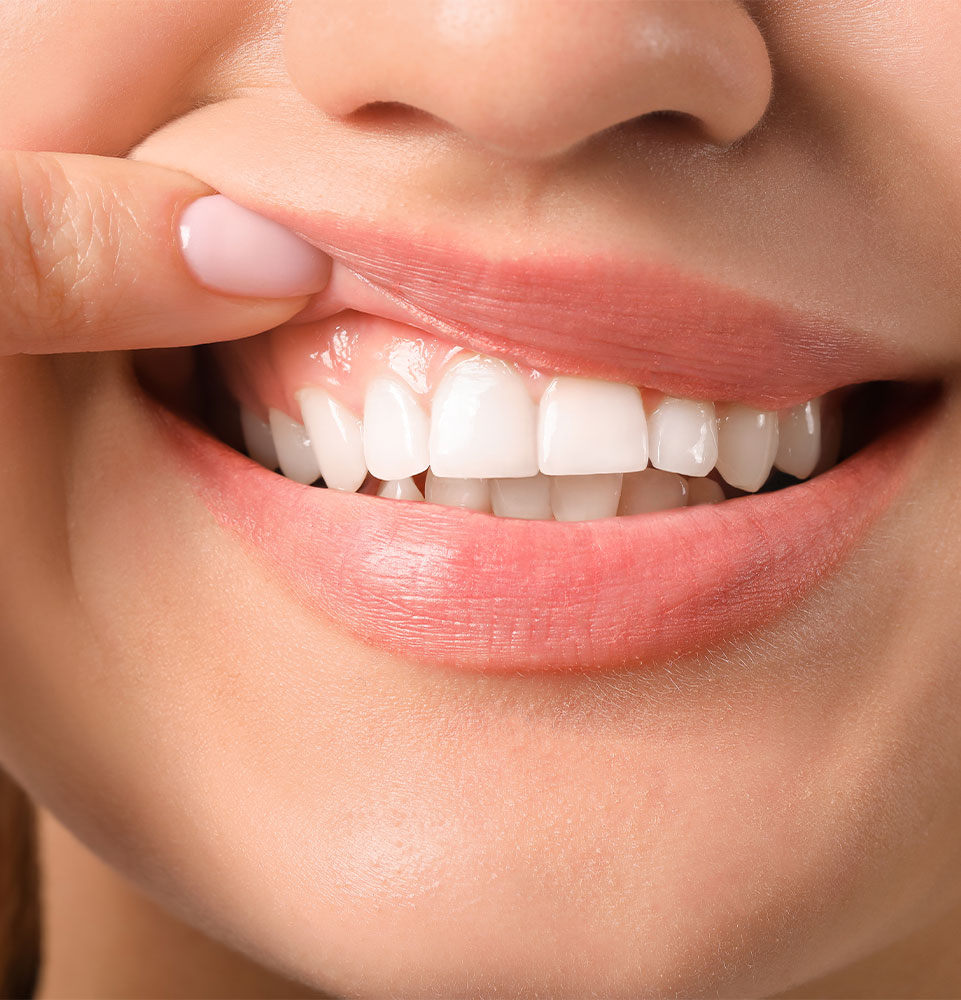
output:
[[[222,194],[187,206],[180,217],[180,247],[200,284],[233,295],[311,295],[330,277],[327,254]]]

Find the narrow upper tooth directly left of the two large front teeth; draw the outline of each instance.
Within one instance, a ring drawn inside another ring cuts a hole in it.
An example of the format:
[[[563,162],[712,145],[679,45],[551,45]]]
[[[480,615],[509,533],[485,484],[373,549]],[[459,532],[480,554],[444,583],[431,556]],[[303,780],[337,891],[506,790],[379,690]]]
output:
[[[406,479],[430,464],[430,424],[416,397],[396,378],[375,378],[364,397],[364,458],[378,479]]]

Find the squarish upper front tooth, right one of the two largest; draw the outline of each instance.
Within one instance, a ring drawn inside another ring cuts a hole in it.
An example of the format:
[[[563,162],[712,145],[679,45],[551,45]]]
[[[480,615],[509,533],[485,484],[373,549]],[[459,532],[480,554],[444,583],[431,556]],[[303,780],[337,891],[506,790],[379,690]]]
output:
[[[548,476],[637,472],[647,465],[647,418],[632,385],[555,378],[541,398],[537,453]]]

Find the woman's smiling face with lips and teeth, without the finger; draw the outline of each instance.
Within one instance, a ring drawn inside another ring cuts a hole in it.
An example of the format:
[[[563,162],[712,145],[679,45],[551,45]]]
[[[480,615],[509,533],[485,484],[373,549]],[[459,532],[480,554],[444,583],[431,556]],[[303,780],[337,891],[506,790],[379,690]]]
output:
[[[251,340],[2,362],[3,764],[337,994],[770,993],[956,903],[959,30],[4,5],[0,146],[333,269]]]

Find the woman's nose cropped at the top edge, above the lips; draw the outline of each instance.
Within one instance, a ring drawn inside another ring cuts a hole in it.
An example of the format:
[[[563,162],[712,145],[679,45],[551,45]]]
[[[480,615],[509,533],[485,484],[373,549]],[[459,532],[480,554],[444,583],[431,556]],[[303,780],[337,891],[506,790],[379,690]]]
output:
[[[726,146],[771,96],[736,0],[294,0],[284,53],[328,115],[407,106],[524,159],[652,112]]]

